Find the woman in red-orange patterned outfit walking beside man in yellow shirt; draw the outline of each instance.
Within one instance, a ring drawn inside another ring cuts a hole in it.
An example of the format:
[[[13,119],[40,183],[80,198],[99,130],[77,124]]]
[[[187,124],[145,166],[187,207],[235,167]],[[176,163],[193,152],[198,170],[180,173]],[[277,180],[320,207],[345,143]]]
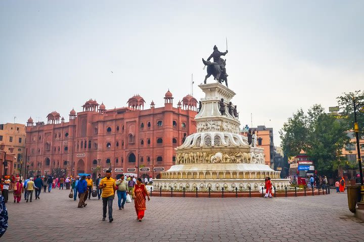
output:
[[[136,184],[134,186],[132,197],[134,199],[135,211],[136,211],[136,219],[140,222],[144,217],[144,211],[147,209],[146,207],[146,196],[148,197],[148,201],[150,201],[149,194],[146,186],[142,182],[142,178],[138,178],[136,180]]]

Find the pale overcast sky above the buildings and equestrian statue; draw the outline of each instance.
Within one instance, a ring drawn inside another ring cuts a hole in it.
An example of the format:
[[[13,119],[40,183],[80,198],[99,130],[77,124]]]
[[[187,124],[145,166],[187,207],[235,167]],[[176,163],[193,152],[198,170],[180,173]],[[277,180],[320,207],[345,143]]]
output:
[[[122,107],[203,97],[201,58],[229,53],[240,122],[278,131],[298,108],[364,89],[364,1],[1,1],[0,123],[68,120],[90,98]],[[112,73],[113,72],[113,73]],[[213,82],[212,77],[208,82]]]

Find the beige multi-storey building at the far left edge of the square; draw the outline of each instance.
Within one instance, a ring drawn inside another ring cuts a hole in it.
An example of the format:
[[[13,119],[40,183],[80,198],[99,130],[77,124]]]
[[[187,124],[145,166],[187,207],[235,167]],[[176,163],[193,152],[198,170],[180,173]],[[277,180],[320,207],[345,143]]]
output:
[[[22,161],[25,161],[25,125],[22,124],[0,124],[0,144],[4,144],[4,151],[7,153],[7,160],[9,155],[13,156],[13,161],[8,162],[5,167],[6,174],[19,174],[22,172]],[[0,155],[3,161],[4,153]],[[3,175],[4,166],[3,162],[0,164],[0,173]]]

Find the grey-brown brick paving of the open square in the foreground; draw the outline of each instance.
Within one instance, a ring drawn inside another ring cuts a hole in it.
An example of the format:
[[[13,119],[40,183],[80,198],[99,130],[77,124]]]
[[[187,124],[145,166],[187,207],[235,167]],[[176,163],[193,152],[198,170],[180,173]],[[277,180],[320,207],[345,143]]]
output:
[[[32,203],[7,204],[1,241],[364,241],[364,223],[345,194],[289,198],[152,197],[145,219],[133,203],[102,221],[102,201],[77,208],[69,190],[41,193]]]

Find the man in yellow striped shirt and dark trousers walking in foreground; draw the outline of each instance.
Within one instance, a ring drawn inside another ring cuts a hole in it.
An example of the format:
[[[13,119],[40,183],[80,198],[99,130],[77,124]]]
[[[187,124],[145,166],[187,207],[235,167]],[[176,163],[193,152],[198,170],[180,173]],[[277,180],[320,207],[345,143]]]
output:
[[[109,222],[114,221],[112,216],[112,202],[115,195],[115,179],[111,178],[111,170],[106,171],[106,177],[101,179],[99,188],[102,189],[103,221],[106,220],[106,207],[109,210]]]

